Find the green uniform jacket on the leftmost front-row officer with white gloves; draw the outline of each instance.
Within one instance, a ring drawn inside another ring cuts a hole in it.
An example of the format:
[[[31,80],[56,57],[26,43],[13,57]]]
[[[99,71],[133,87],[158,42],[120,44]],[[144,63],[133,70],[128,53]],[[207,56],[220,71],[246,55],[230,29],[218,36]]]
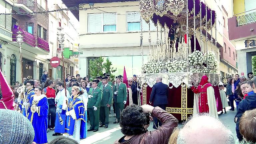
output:
[[[93,97],[88,99],[87,107],[92,108],[93,106],[96,106],[97,108],[99,108],[102,98],[101,88],[96,87],[95,90],[93,90],[93,88],[90,88],[88,95],[92,95]]]

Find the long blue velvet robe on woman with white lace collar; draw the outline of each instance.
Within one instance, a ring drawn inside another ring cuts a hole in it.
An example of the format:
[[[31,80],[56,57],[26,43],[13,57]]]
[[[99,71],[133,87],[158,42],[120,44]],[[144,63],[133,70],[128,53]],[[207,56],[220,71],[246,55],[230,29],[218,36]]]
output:
[[[33,104],[34,97],[37,97],[36,95],[32,96],[29,101],[29,115],[28,119],[33,125],[34,131],[35,131],[35,137],[33,142],[36,144],[47,144],[47,125],[48,125],[48,101],[46,96],[43,97],[41,100],[38,101],[37,107],[38,112],[32,113],[31,112],[31,106]]]

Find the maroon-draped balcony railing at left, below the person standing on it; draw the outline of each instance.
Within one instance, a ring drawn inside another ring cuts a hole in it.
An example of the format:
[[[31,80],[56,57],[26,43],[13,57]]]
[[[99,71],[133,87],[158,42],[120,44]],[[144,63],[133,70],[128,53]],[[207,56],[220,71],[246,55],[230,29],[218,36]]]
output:
[[[19,29],[12,29],[12,41],[14,41],[14,42],[17,41],[16,36],[18,35],[17,32],[18,32],[19,30],[20,30],[21,32],[23,32],[23,33],[22,33],[22,36],[24,37],[24,38],[23,38],[23,41],[24,41],[25,43],[31,45],[32,47],[35,47],[35,46],[36,46],[36,44],[35,44],[35,36],[32,35],[32,34],[30,34],[30,33],[27,32],[27,31],[21,29],[21,28],[19,28]]]

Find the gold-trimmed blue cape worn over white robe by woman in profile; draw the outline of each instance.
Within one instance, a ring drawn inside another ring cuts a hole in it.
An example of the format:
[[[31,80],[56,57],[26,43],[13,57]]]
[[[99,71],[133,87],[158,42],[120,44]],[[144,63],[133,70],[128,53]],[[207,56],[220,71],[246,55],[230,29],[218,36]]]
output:
[[[65,123],[65,134],[73,135],[74,133],[74,126],[76,120],[81,120],[80,125],[80,139],[84,139],[87,137],[87,113],[84,108],[84,103],[80,96],[73,99],[74,96],[71,96],[68,99],[68,106],[67,111],[71,111],[74,109],[76,118],[73,119],[71,116],[66,116],[66,123]],[[62,111],[64,114],[66,111]]]

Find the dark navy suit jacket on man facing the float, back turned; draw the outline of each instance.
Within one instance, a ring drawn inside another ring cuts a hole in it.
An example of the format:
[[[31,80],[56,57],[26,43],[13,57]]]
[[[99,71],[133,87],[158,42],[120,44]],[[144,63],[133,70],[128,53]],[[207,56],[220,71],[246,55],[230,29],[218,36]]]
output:
[[[168,86],[159,82],[153,85],[149,101],[153,102],[153,105],[168,104],[167,96]]]

